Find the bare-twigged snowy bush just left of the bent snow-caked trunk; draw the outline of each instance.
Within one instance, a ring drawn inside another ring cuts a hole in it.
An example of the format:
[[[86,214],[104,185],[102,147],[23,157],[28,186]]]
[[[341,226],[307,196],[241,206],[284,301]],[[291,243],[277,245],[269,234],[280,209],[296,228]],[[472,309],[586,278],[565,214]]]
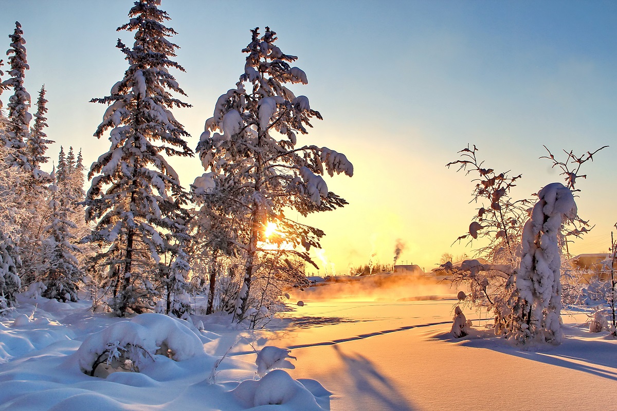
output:
[[[467,175],[474,176],[471,196],[478,205],[478,213],[473,217],[468,232],[457,241],[467,240],[468,245],[481,245],[474,250],[473,259],[465,258],[461,264],[444,261],[440,269],[456,285],[469,285],[471,292],[465,295],[465,303],[494,312],[495,333],[499,335],[502,332],[500,319],[507,311],[510,296],[506,285],[518,264],[521,233],[531,200],[510,197],[522,174],[510,176],[509,171],[499,172],[487,167],[477,157],[478,151],[475,145],[468,145],[459,152],[460,160],[446,166],[458,166],[458,171],[464,170]]]

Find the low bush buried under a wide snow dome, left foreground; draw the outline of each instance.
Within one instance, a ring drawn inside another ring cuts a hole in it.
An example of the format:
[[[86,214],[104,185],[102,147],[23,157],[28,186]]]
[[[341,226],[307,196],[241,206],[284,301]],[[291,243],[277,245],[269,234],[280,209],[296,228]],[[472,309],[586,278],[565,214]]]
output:
[[[199,337],[183,320],[155,313],[110,325],[88,336],[77,350],[81,371],[91,376],[99,364],[114,370],[128,365],[139,371],[144,362],[154,361],[156,355],[183,361],[205,352]]]

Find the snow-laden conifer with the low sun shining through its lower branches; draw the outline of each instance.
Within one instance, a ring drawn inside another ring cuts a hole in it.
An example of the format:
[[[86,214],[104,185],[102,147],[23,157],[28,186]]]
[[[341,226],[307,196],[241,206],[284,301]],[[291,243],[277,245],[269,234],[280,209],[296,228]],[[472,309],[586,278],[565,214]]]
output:
[[[260,241],[265,240],[267,222],[275,222],[289,250],[314,264],[307,251],[297,247],[319,247],[323,232],[286,218],[285,210],[306,216],[316,211],[334,210],[346,201],[328,192],[321,177],[325,169],[333,173],[353,174],[353,166],[341,153],[326,147],[297,147],[297,133],[307,134],[310,119],[321,119],[310,108],[309,99],[295,96],[287,84],[307,83],[304,71],[291,67],[297,57],[284,54],[275,46],[276,33],[266,27],[251,30],[251,43],[242,50],[248,54],[244,73],[236,88],[217,100],[212,118],[197,147],[204,165],[199,185],[212,187],[205,195],[217,196],[223,209],[237,214],[241,231],[233,239],[238,252],[246,258],[244,279],[234,319],[241,321],[249,309],[251,282],[260,269]],[[249,87],[245,89],[245,83]],[[210,135],[210,131],[219,131]]]

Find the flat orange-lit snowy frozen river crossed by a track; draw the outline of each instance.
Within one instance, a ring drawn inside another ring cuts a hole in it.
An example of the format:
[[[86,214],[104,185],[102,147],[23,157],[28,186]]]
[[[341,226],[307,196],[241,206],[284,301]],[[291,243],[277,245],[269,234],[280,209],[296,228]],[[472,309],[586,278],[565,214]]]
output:
[[[614,396],[614,341],[576,327],[546,352],[495,338],[455,341],[447,332],[456,303],[307,301],[270,341],[255,343],[291,348],[289,373],[331,391],[332,410],[586,410],[595,409],[590,389]],[[474,320],[479,333],[481,324]]]

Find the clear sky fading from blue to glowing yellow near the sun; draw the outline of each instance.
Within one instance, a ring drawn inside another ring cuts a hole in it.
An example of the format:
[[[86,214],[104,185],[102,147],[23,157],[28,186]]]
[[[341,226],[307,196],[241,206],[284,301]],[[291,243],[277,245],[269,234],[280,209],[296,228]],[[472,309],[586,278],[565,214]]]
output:
[[[51,157],[73,145],[90,163],[109,148],[92,137],[104,107],[88,100],[122,78],[115,42],[131,36],[115,28],[131,5],[0,0],[0,49],[19,20],[27,89],[48,89]],[[450,243],[474,214],[472,185],[444,165],[468,142],[488,166],[523,173],[515,197],[561,181],[538,160],[542,144],[581,153],[614,145],[584,170],[579,212],[597,227],[575,251],[608,247],[617,221],[617,2],[163,0],[161,8],[179,32],[173,41],[187,73],[176,78],[194,107],[175,115],[191,147],[243,71],[249,29],[269,25],[283,52],[299,56],[309,85],[297,92],[325,119],[305,141],[346,153],[355,166],[352,179],[326,179],[350,205],[310,219],[325,229],[337,272],[367,262],[373,249],[390,262],[395,238],[408,245],[402,261],[427,269],[445,251],[465,251]],[[197,159],[173,164],[185,186],[203,172]]]

